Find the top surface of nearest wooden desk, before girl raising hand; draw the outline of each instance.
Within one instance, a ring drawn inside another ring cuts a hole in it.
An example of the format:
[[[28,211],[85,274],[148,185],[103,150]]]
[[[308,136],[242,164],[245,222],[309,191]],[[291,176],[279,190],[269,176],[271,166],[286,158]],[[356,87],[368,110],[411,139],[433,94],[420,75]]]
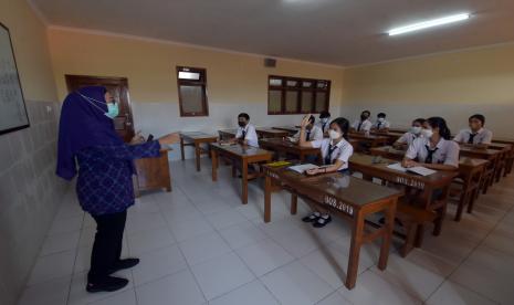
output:
[[[308,177],[290,170],[289,166],[276,168],[265,165],[264,167],[271,172],[272,177],[273,175],[276,175],[274,178],[279,177],[280,179],[284,179],[286,182],[289,181],[293,182],[293,185],[300,186],[302,188],[300,190],[301,192],[308,192],[310,190],[323,192],[338,201],[353,206],[355,209],[359,209],[363,206],[371,204],[379,200],[400,197],[403,194],[401,190],[384,187],[349,175],[340,175],[338,172]],[[331,202],[324,203],[331,204]]]

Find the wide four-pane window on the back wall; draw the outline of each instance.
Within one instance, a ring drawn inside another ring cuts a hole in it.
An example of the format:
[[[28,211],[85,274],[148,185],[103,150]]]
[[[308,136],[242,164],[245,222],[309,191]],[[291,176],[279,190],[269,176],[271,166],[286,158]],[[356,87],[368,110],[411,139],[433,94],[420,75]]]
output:
[[[331,81],[270,75],[268,114],[308,114],[328,111]]]

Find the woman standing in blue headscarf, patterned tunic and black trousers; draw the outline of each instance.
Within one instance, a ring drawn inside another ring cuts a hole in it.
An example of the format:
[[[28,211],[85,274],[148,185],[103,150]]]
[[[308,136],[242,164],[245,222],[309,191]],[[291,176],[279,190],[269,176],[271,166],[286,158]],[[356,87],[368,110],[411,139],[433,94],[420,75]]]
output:
[[[117,115],[111,93],[90,86],[67,95],[59,124],[56,173],[72,180],[78,172],[78,202],[96,221],[86,285],[91,293],[125,287],[128,280],[111,274],[139,263],[138,259],[120,259],[127,209],[134,204],[134,159],[158,157],[161,146],[179,140],[178,134],[169,134],[140,144],[136,136],[134,145],[127,145],[114,130]]]

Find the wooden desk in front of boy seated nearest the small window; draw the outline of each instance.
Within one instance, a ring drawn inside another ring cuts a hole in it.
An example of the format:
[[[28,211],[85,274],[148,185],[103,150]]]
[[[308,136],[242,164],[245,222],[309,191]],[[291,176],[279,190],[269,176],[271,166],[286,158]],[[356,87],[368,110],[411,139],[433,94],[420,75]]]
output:
[[[212,158],[212,181],[218,180],[219,156],[230,159],[232,161],[232,176],[235,176],[235,166],[241,167],[241,201],[243,202],[243,204],[248,203],[248,180],[260,176],[259,173],[250,175],[248,172],[248,166],[252,164],[269,162],[271,161],[273,154],[261,148],[240,144],[221,145],[219,143],[211,143],[210,147]]]

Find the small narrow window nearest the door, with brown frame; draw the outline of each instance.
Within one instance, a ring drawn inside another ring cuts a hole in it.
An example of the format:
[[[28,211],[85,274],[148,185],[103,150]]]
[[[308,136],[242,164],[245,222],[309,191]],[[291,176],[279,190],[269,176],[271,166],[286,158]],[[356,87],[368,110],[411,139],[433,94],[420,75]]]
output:
[[[180,116],[208,116],[204,69],[177,66]]]

